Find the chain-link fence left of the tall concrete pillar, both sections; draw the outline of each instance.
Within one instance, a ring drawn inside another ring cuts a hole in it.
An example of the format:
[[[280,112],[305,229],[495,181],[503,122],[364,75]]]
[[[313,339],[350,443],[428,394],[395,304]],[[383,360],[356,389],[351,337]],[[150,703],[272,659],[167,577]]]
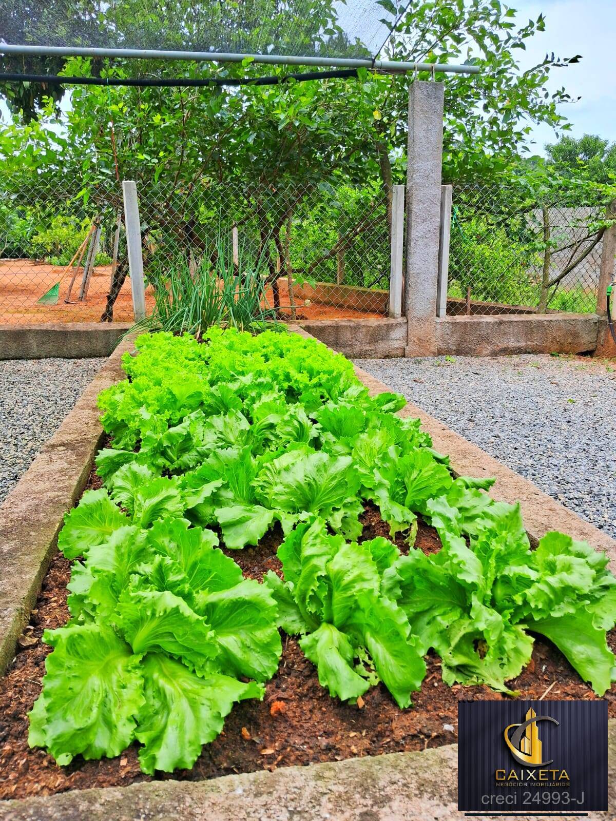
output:
[[[0,194],[0,322],[133,319],[119,183],[34,174]],[[391,206],[375,186],[137,181],[137,194],[148,311],[178,272],[215,282],[222,261],[238,282],[258,270],[281,319],[388,314]]]

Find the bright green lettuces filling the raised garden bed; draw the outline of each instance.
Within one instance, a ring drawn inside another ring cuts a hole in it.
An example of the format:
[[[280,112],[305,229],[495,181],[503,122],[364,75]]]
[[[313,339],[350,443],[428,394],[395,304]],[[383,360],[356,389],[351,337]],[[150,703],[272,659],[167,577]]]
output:
[[[550,533],[531,551],[520,508],[490,481],[453,479],[402,397],[370,397],[314,340],[213,328],[203,343],[156,333],[99,397],[113,447],[103,488],[66,516],[71,621],[30,713],[30,745],[59,764],[140,742],[145,773],[190,768],[232,705],[262,698],[280,630],[299,635],[332,696],[382,681],[401,708],[433,649],[449,685],[508,682],[553,641],[603,695],[616,579],[605,555]],[[390,539],[361,540],[365,502]],[[413,547],[417,516],[442,549]],[[279,522],[282,578],[244,579],[218,548]]]

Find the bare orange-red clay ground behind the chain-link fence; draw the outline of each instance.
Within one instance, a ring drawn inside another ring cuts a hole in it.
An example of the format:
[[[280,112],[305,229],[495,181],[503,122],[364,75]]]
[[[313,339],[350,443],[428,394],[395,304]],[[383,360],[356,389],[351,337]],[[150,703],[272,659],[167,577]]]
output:
[[[28,325],[39,323],[99,322],[107,301],[111,267],[99,266],[94,269],[90,280],[88,296],[83,302],[77,301],[81,274],[76,277],[71,291],[71,304],[64,301],[67,296],[70,276],[60,282],[60,293],[57,305],[39,305],[38,300],[58,282],[62,276],[62,267],[37,264],[30,259],[0,259],[0,323],[11,325]],[[281,282],[280,319],[291,319],[287,284]],[[267,294],[269,305],[273,305],[271,288]],[[149,288],[145,291],[145,302],[148,313],[154,308],[154,296]],[[264,306],[265,307],[265,306]],[[374,319],[380,314],[364,311],[320,305],[305,300],[297,300],[296,319]],[[116,322],[132,322],[134,319],[131,296],[131,277],[126,277],[113,309]]]

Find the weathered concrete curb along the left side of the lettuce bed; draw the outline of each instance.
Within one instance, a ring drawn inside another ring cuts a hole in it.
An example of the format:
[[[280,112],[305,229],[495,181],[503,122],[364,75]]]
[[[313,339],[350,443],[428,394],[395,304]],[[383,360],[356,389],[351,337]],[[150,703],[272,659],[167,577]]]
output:
[[[0,507],[0,674],[11,663],[34,607],[62,517],[90,475],[103,437],[96,398],[124,378],[121,357],[133,342],[117,346]]]

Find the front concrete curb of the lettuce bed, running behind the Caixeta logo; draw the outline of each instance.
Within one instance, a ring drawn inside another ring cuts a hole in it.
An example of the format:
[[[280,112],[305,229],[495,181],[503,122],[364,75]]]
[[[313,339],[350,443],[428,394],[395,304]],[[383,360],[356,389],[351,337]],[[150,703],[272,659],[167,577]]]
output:
[[[609,810],[616,814],[616,720],[609,722]],[[75,790],[0,805],[2,821],[459,821],[457,745],[211,781]],[[571,816],[559,816],[559,818]],[[494,816],[482,816],[494,819]],[[530,821],[527,815],[508,815]],[[495,821],[495,819],[494,819]]]

